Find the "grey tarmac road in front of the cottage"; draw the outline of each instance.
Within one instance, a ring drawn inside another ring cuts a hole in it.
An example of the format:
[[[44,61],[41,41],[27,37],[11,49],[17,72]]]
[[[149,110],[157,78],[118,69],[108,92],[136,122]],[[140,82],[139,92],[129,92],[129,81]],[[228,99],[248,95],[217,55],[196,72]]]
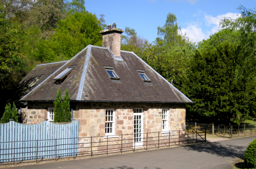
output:
[[[256,136],[12,169],[232,169]]]

